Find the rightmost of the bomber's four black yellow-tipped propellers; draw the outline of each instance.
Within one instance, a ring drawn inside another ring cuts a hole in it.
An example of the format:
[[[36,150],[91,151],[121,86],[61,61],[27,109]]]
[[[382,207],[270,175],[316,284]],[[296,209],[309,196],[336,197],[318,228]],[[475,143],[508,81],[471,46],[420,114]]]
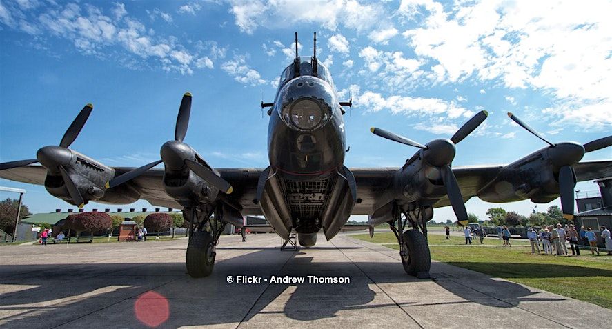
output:
[[[535,137],[548,143],[549,156],[553,165],[559,168],[559,195],[561,197],[561,209],[565,219],[574,218],[574,186],[576,185],[575,172],[573,166],[582,160],[584,153],[601,150],[612,146],[612,136],[595,139],[584,145],[575,142],[551,143],[527,123],[521,121],[511,112],[508,117],[518,123],[519,126],[531,132]]]

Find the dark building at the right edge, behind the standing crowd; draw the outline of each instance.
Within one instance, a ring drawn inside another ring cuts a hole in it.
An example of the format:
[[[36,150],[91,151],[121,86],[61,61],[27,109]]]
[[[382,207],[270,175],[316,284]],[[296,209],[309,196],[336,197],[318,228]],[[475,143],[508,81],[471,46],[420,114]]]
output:
[[[600,187],[599,201],[591,200],[588,202],[581,203],[580,199],[576,199],[578,204],[578,214],[575,215],[575,223],[578,227],[584,226],[585,228],[591,228],[593,232],[598,236],[598,244],[603,246],[603,242],[600,238],[601,230],[600,226],[606,226],[608,229],[612,229],[612,177],[598,179],[595,181]],[[593,197],[582,198],[582,199],[593,199]],[[600,204],[599,208],[586,208],[589,205]]]

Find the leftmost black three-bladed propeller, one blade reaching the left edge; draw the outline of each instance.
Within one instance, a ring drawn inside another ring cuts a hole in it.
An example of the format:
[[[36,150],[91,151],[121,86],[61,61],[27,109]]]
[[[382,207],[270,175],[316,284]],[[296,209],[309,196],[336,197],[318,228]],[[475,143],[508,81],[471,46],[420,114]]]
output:
[[[92,110],[92,104],[87,104],[83,107],[81,112],[79,112],[75,120],[72,121],[66,132],[63,134],[63,137],[59,142],[59,146],[45,146],[41,148],[36,154],[36,159],[0,163],[0,170],[28,166],[32,163],[39,162],[49,172],[57,173],[59,171],[64,183],[66,183],[66,188],[68,189],[72,202],[79,206],[79,208],[83,208],[83,206],[85,206],[83,196],[81,195],[81,192],[79,192],[77,186],[75,186],[75,182],[72,181],[72,178],[70,178],[70,175],[68,175],[66,166],[70,163],[70,159],[72,158],[72,152],[70,152],[68,147],[72,145],[75,139],[77,139],[79,136],[79,133],[83,129],[83,126],[85,126],[85,123],[87,122]]]

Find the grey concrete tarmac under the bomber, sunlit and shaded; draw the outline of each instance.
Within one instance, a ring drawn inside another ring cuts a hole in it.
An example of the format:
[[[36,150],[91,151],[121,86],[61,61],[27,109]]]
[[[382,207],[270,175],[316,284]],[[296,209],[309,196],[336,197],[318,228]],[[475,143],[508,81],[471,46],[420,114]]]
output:
[[[186,274],[186,239],[2,246],[0,327],[612,328],[612,310],[444,263],[433,280],[409,277],[397,251],[349,235],[299,251],[273,234],[240,239],[221,237],[202,279]]]

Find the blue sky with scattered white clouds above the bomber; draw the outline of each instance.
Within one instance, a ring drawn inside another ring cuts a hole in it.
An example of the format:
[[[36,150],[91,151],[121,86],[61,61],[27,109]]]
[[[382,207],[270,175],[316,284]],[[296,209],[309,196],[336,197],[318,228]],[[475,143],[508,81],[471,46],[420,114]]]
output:
[[[371,126],[427,143],[480,110],[489,117],[457,145],[453,166],[511,163],[546,144],[506,112],[553,142],[610,134],[610,12],[611,1],[597,0],[0,0],[0,161],[57,145],[86,103],[94,110],[72,149],[108,166],[155,161],[189,91],[186,143],[216,168],[265,168],[268,117],[259,103],[273,101],[293,33],[309,56],[317,32],[317,57],[339,98],[353,98],[346,166],[402,166],[416,151]],[[611,148],[584,156],[611,158]],[[32,212],[70,207],[42,186],[0,186],[26,189]],[[466,203],[480,219],[494,206]],[[501,206],[529,215],[534,203]],[[110,208],[119,207],[153,208]],[[434,219],[455,217],[446,207]]]

